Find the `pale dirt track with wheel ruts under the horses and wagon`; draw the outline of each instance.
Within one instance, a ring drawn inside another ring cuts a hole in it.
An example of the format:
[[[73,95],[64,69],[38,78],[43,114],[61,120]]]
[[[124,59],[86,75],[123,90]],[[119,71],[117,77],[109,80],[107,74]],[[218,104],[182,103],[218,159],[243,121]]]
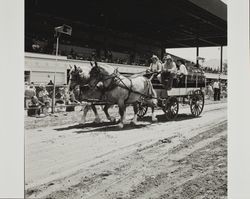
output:
[[[226,198],[227,104],[187,114],[124,130],[108,122],[31,129],[28,121],[26,197]]]

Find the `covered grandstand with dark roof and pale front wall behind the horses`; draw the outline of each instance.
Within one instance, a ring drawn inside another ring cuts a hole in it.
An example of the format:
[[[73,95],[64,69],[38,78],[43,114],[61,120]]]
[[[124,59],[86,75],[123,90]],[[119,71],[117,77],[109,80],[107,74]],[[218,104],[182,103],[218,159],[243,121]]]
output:
[[[149,66],[152,54],[162,58],[165,48],[197,47],[198,53],[199,47],[227,45],[226,10],[220,0],[25,1],[26,80],[51,79],[56,26],[73,28],[71,37],[60,36],[59,63],[88,63],[95,57],[131,71]],[[56,83],[66,83],[67,67],[57,69]]]

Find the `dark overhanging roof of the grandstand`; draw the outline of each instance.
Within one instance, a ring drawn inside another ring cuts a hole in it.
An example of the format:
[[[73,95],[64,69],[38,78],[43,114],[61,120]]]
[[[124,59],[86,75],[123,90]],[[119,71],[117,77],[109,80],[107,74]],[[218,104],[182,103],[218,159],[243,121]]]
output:
[[[81,4],[80,4],[81,2]],[[163,48],[227,45],[227,5],[220,0],[26,0],[26,17],[46,13]],[[30,19],[29,19],[30,20]],[[71,24],[69,24],[71,25]],[[73,28],[74,34],[74,28]]]

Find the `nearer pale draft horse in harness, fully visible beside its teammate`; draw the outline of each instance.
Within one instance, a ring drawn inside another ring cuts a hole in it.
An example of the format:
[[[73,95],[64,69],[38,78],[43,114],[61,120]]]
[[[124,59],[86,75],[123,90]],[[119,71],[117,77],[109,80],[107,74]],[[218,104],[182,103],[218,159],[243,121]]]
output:
[[[157,95],[151,81],[143,76],[131,76],[130,78],[121,75],[114,67],[95,62],[95,66],[89,72],[89,86],[93,89],[99,83],[108,102],[117,104],[121,116],[119,128],[124,127],[126,105],[132,104],[134,118],[132,122],[137,123],[138,102],[143,101],[152,108],[152,121],[157,121],[154,108],[157,106]]]

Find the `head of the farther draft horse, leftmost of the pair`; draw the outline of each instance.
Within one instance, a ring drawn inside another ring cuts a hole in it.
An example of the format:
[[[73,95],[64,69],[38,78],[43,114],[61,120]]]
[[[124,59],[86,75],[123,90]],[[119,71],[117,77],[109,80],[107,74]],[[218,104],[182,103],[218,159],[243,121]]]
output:
[[[71,67],[69,71],[69,90],[72,91],[77,85],[86,85],[89,81],[88,74],[80,67]]]

